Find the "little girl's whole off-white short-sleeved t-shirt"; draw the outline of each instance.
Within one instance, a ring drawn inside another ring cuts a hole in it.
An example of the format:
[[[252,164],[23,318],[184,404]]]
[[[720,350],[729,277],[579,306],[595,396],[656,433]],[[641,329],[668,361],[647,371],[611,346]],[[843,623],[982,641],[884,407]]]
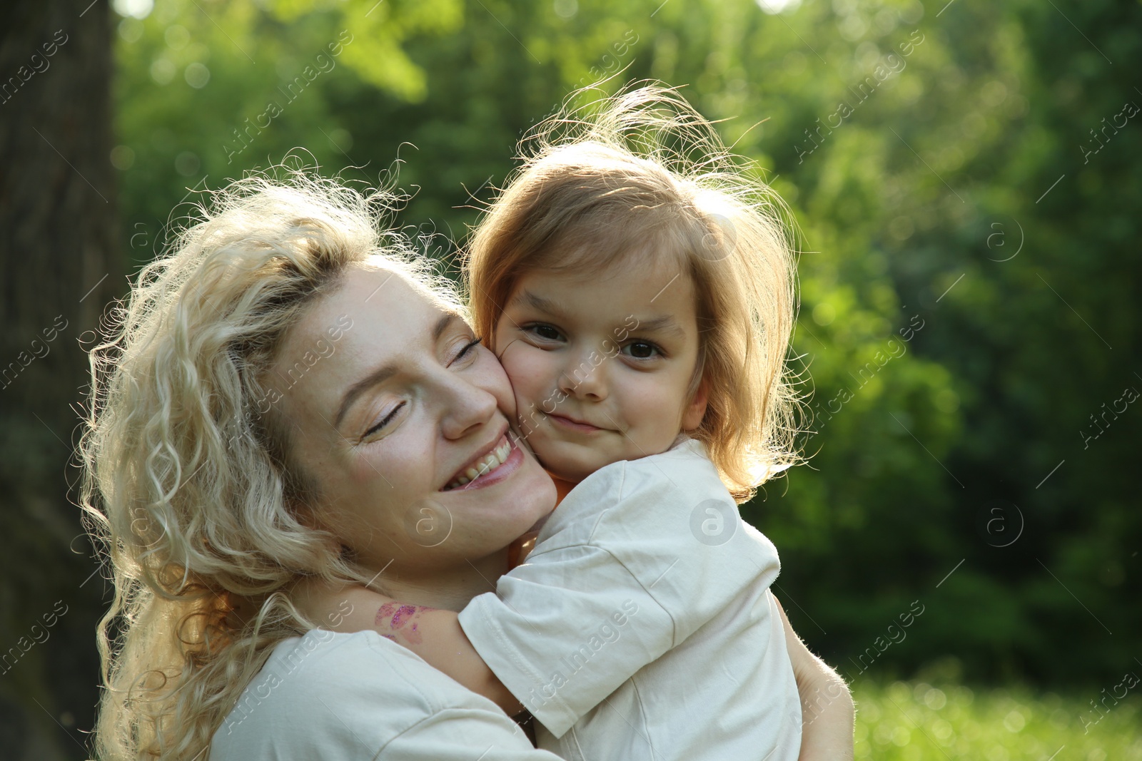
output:
[[[779,570],[689,439],[578,484],[460,625],[563,759],[795,761]]]

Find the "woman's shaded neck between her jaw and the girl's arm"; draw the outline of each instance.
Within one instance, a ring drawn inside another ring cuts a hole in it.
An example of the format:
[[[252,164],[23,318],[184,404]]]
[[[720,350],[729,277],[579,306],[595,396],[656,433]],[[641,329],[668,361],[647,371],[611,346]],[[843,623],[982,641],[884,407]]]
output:
[[[459,612],[477,594],[496,591],[496,581],[507,573],[507,552],[505,548],[478,560],[461,560],[431,572],[400,574],[387,568],[372,586],[400,602]]]

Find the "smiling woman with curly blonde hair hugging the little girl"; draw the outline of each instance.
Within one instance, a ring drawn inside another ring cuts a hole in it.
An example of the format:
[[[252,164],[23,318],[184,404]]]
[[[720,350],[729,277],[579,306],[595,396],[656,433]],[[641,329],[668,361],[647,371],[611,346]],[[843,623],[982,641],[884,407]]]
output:
[[[389,201],[235,183],[93,351],[83,503],[115,581],[98,758],[555,759],[400,646],[291,599],[352,580],[458,610],[554,505],[514,446],[482,488],[445,489],[502,442],[513,397],[453,292],[381,246]],[[803,758],[851,755],[847,691],[790,653]]]

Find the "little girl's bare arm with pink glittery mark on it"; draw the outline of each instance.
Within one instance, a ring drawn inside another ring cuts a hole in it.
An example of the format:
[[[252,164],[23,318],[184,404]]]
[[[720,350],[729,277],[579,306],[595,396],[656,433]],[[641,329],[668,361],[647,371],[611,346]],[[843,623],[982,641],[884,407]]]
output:
[[[472,647],[452,610],[399,602],[360,585],[329,588],[312,580],[295,588],[293,604],[323,629],[338,632],[375,631],[424,658],[509,717],[523,705]]]

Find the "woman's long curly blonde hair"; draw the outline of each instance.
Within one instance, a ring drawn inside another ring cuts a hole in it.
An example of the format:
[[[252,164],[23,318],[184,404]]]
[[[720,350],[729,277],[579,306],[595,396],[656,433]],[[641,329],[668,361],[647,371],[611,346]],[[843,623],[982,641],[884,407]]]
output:
[[[290,327],[349,266],[456,305],[380,232],[394,200],[299,171],[233,183],[142,270],[91,351],[82,507],[115,586],[98,629],[96,758],[207,758],[273,646],[314,628],[290,585],[361,578],[299,512],[320,481],[292,462],[265,382]],[[234,621],[236,600],[248,621]]]

